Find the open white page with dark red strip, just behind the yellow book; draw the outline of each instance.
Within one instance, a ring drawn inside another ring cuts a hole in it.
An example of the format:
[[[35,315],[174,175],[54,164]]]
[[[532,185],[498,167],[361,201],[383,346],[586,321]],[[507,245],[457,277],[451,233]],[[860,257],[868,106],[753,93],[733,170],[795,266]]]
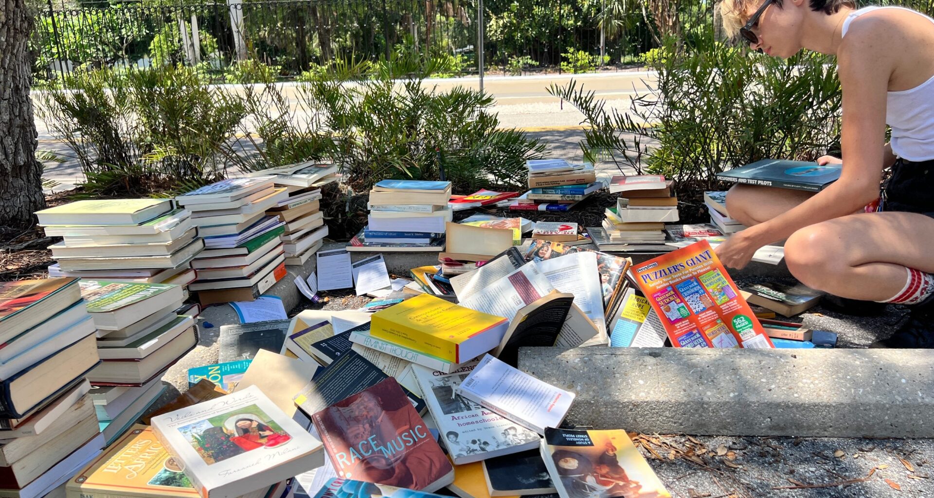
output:
[[[488,283],[483,292],[461,299],[460,306],[513,320],[519,309],[554,290],[535,263],[526,263],[509,275]]]

